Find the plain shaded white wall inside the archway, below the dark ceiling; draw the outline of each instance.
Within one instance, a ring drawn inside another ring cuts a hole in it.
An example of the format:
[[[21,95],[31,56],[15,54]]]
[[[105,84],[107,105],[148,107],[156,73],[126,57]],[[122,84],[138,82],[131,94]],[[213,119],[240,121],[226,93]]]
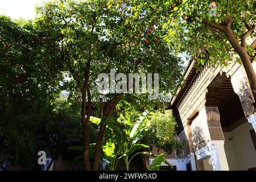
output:
[[[224,147],[230,170],[256,167],[256,151],[250,135],[252,129],[251,123],[246,122],[230,133],[224,133]]]

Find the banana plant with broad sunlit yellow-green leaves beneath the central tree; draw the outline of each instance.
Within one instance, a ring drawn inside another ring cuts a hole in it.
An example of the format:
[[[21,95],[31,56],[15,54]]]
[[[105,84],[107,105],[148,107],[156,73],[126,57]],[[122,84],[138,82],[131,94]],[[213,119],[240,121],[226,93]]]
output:
[[[172,167],[170,163],[166,159],[164,159],[165,155],[160,154],[160,155],[155,155],[151,152],[137,152],[134,154],[134,151],[142,149],[142,148],[148,148],[146,144],[140,144],[140,140],[143,138],[143,136],[146,134],[148,127],[150,123],[146,122],[146,116],[147,113],[144,112],[141,117],[139,117],[138,121],[135,122],[133,125],[132,129],[127,129],[125,131],[127,135],[127,141],[123,141],[121,150],[117,151],[117,148],[115,147],[115,144],[113,142],[106,142],[102,146],[102,155],[101,158],[106,164],[106,169],[109,169],[110,171],[114,171],[115,168],[117,167],[117,164],[120,159],[123,159],[126,164],[126,170],[129,171],[129,164],[131,160],[138,154],[143,154],[143,155],[150,155],[154,156],[155,159],[152,161],[152,164],[148,167],[150,171],[156,171],[159,169],[160,165],[162,162],[168,164],[169,166]],[[96,118],[96,117],[91,117],[90,122],[95,123],[96,125],[100,124],[101,119]],[[125,121],[123,121],[125,125],[130,125],[130,118],[129,116],[125,117]],[[90,144],[90,155],[94,154],[94,147],[95,143]],[[69,147],[68,150],[76,150],[76,151],[84,151],[84,147],[82,146],[72,146]],[[120,156],[121,155],[121,156]],[[131,156],[132,155],[132,156]],[[82,159],[82,155],[77,156],[76,160]]]

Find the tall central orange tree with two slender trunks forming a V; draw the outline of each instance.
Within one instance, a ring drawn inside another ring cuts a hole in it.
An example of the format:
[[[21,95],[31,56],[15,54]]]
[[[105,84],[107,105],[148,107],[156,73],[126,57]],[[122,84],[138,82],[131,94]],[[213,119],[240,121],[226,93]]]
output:
[[[37,8],[38,28],[58,38],[60,64],[71,78],[64,87],[81,105],[86,170],[98,170],[106,125],[115,106],[126,97],[123,93],[107,94],[103,102],[97,90],[98,74],[109,76],[110,69],[116,74],[159,73],[160,93],[174,92],[181,77],[181,60],[172,56],[154,20],[135,14],[137,5],[133,1],[51,1]],[[146,103],[147,99],[139,98]],[[101,118],[93,165],[89,159],[92,101],[97,102]]]

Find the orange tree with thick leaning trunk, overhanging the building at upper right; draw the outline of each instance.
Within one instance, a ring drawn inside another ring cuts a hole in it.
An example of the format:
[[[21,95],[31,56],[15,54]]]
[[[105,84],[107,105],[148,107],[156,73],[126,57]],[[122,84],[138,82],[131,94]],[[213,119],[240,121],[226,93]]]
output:
[[[199,65],[228,65],[238,55],[236,61],[245,68],[255,102],[256,75],[251,64],[255,49],[246,41],[255,38],[255,1],[145,1],[137,6],[137,13],[164,20],[163,38],[174,52],[187,52]]]

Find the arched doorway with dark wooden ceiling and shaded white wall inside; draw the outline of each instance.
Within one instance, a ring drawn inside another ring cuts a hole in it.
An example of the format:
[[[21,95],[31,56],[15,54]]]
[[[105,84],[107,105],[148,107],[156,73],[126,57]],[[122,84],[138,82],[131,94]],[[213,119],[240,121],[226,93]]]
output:
[[[208,121],[211,139],[224,140],[225,155],[219,154],[218,159],[226,158],[229,170],[256,168],[255,131],[245,117],[230,78],[220,73],[214,78],[208,86],[205,105],[218,110],[217,120],[221,127],[216,126],[214,119]],[[208,161],[204,161],[204,166],[210,169],[212,164]]]

